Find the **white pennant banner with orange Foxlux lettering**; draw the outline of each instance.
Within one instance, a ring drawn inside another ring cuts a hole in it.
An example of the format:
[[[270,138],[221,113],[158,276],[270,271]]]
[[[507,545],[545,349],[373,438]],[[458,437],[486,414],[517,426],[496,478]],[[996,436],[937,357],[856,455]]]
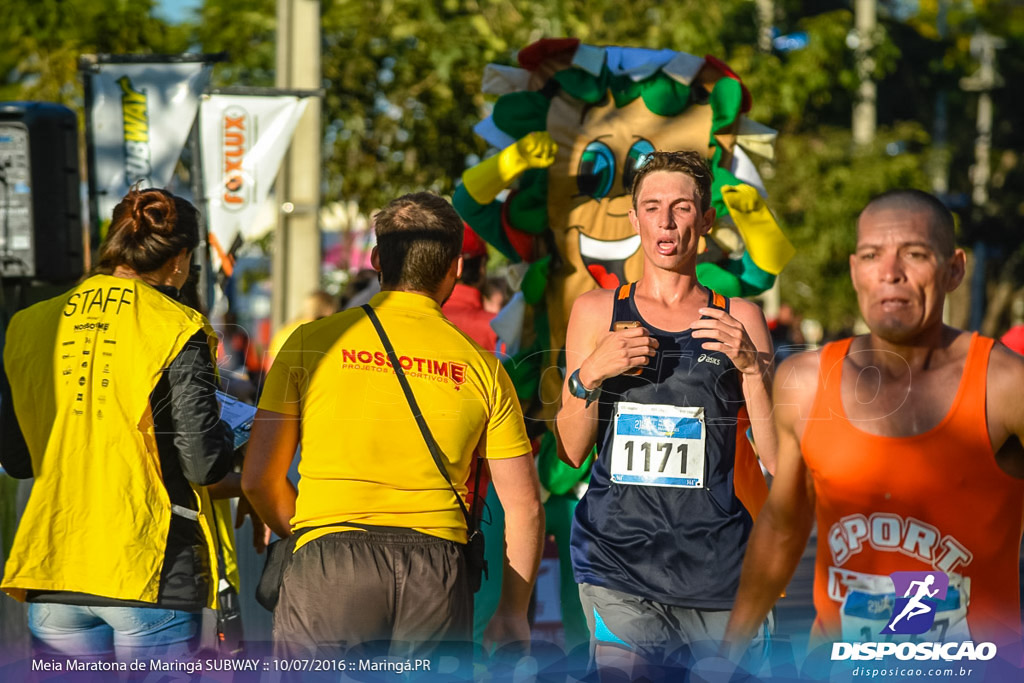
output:
[[[308,97],[203,95],[200,141],[214,269],[231,276],[232,252],[262,225],[257,216]]]

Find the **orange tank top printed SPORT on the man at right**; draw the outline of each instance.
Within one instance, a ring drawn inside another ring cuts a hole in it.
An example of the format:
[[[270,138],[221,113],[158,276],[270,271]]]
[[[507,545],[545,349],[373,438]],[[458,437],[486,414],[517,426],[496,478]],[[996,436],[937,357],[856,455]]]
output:
[[[935,633],[926,638],[1018,641],[1024,482],[999,469],[988,436],[993,340],[972,336],[949,413],[906,437],[869,434],[847,418],[841,380],[851,342],[822,348],[801,440],[816,496],[813,636],[881,641],[878,624],[885,628],[894,597],[902,597],[892,593],[889,574],[944,571],[949,603],[939,609],[948,611],[936,612]],[[963,604],[951,604],[957,599]]]

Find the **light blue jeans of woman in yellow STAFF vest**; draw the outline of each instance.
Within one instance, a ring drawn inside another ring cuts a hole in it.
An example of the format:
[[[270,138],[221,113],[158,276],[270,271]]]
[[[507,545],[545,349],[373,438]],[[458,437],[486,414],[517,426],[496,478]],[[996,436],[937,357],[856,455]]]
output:
[[[80,659],[186,656],[198,645],[201,618],[199,613],[153,607],[29,605],[35,652]]]

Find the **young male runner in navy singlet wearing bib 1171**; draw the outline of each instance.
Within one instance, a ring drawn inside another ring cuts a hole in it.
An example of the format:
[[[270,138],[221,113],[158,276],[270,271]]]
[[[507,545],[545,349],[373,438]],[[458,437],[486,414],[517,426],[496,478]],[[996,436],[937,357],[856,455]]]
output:
[[[571,541],[592,659],[636,680],[715,653],[756,514],[737,492],[757,467],[737,464],[746,417],[769,471],[775,434],[761,309],[696,280],[715,220],[703,159],[652,154],[630,220],[644,274],[575,301],[558,436],[575,466],[598,447]]]

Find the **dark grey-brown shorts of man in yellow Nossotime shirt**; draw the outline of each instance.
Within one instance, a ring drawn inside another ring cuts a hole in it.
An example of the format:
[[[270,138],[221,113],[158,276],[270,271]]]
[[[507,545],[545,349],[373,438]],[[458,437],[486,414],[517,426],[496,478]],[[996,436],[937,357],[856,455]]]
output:
[[[285,569],[274,650],[300,656],[376,643],[380,654],[423,657],[468,644],[473,594],[465,564],[460,544],[412,530],[310,541]]]

